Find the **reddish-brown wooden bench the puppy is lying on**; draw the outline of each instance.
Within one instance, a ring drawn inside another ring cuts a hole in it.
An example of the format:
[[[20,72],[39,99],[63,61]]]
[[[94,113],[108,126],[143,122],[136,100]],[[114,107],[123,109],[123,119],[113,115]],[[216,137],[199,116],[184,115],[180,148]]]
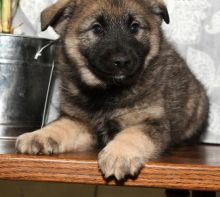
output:
[[[114,180],[103,179],[96,158],[95,152],[20,155],[15,153],[13,140],[2,139],[0,179],[115,185]],[[159,160],[146,163],[138,178],[129,179],[123,185],[165,188],[169,197],[188,196],[188,190],[194,191],[193,197],[215,196],[215,191],[220,191],[220,146],[177,148]]]

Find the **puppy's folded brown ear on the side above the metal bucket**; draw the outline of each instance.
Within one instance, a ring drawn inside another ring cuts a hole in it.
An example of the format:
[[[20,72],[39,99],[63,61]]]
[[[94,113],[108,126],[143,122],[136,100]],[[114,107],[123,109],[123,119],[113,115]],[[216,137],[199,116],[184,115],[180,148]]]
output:
[[[58,0],[57,3],[41,12],[41,29],[46,30],[49,26],[55,27],[64,15],[70,0]]]

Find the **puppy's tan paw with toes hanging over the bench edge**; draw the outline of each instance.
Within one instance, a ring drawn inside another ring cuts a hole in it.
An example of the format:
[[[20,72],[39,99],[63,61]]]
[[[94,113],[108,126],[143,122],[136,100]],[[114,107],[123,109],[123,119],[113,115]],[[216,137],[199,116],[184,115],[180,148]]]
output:
[[[105,178],[122,180],[127,175],[135,176],[146,160],[138,146],[113,140],[99,153],[98,164]]]

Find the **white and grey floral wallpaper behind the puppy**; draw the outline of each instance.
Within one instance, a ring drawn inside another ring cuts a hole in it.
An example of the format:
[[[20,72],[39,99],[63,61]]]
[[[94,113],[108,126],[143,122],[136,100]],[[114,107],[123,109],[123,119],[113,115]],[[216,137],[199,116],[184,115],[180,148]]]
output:
[[[39,10],[56,0],[21,0],[21,12],[39,35]],[[220,143],[220,1],[165,0],[171,23],[163,24],[167,38],[204,84],[210,98],[208,132],[204,142]],[[25,14],[24,14],[25,13]],[[49,120],[54,118],[58,93],[51,102]]]

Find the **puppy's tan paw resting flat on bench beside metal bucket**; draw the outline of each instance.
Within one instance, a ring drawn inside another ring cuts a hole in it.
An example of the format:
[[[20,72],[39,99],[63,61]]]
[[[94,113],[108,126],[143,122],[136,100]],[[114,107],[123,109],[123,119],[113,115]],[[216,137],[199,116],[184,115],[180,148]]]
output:
[[[25,133],[17,138],[15,148],[18,153],[46,154],[60,152],[59,143],[43,132]]]

